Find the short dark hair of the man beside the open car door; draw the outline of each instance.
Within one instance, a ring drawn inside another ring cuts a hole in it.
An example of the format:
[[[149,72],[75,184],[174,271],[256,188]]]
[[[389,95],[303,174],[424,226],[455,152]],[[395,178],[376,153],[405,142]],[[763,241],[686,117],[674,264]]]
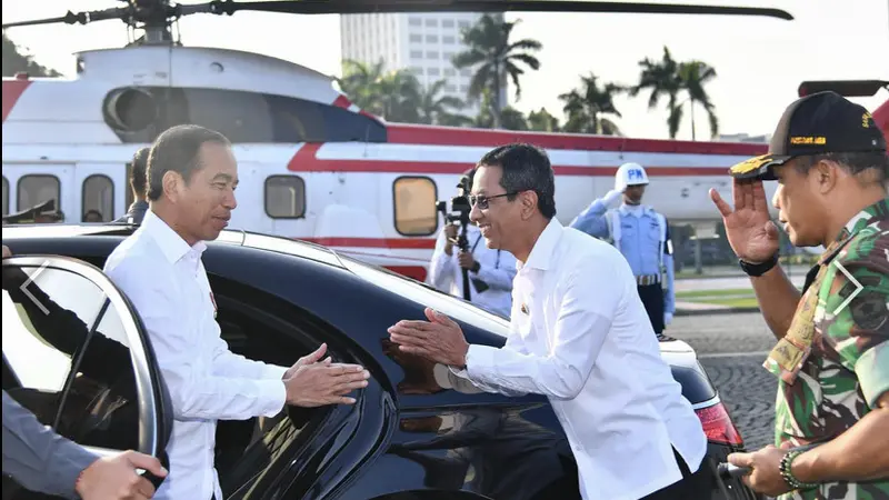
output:
[[[156,201],[163,193],[163,176],[178,172],[188,183],[202,164],[198,151],[204,142],[231,146],[226,136],[196,124],[167,129],[158,136],[148,156],[148,199]]]

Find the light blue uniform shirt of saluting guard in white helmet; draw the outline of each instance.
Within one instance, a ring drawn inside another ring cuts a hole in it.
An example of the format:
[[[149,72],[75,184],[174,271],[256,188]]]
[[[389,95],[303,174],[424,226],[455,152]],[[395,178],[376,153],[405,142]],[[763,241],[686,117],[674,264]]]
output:
[[[617,219],[620,222],[619,244],[620,252],[637,277],[661,276],[659,269],[660,251],[663,251],[663,267],[666,268],[666,279],[663,287],[665,302],[663,311],[670,314],[676,312],[676,292],[673,288],[673,256],[672,242],[670,241],[670,226],[667,218],[663,218],[666,226],[666,239],[661,243],[660,223],[658,213],[651,207],[631,207],[622,204],[616,210]],[[571,227],[599,239],[611,240],[612,234],[608,223],[608,202],[599,199],[580,212],[571,221]],[[662,250],[661,250],[662,249]]]

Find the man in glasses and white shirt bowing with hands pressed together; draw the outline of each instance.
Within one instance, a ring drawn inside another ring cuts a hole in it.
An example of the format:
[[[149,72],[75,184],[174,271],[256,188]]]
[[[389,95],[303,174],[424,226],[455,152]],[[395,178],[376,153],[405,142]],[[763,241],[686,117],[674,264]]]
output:
[[[430,309],[429,321],[392,326],[392,342],[479,389],[547,396],[586,500],[709,498],[707,438],[660,357],[629,264],[610,244],[562,227],[555,190],[549,160],[532,146],[503,146],[479,162],[471,219],[489,247],[519,261],[502,349],[468,344]]]

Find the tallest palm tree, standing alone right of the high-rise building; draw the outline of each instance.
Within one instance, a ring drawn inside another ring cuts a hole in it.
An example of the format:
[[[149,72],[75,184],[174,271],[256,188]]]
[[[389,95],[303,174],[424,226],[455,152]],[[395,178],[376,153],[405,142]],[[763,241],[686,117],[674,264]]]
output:
[[[499,21],[489,14],[482,16],[472,28],[462,33],[463,43],[469,49],[458,53],[452,60],[458,69],[479,64],[469,84],[468,97],[471,101],[478,102],[486,89],[493,93],[490,106],[495,128],[500,128],[502,124],[501,110],[506,103],[500,102],[500,93],[506,87],[507,78],[512,79],[516,86],[516,100],[519,100],[521,98],[519,76],[525,73],[519,63],[532,70],[540,69],[540,61],[531,54],[543,47],[539,41],[531,39],[509,41],[512,29],[518,22]]]

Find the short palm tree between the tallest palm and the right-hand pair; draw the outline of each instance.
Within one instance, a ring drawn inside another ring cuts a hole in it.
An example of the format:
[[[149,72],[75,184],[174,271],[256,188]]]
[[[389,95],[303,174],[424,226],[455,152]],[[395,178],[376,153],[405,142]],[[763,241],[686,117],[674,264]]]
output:
[[[621,117],[620,111],[615,107],[615,97],[626,89],[617,83],[606,83],[599,87],[599,77],[589,73],[580,77],[580,89],[559,96],[559,100],[565,102],[565,111],[568,117],[565,127],[566,132],[580,133],[601,133],[607,136],[620,136],[618,126],[603,114]]]

